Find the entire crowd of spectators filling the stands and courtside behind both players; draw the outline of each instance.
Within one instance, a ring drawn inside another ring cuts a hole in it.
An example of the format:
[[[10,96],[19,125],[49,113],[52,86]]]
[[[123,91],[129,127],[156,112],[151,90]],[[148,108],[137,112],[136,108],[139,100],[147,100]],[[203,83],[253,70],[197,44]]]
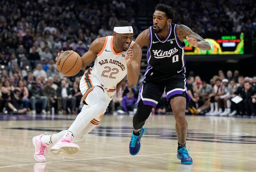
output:
[[[163,3],[177,11],[174,19],[177,24],[186,24],[198,34],[256,31],[256,8],[252,0],[206,0],[199,2],[200,5],[172,0]],[[234,4],[232,8],[230,3]],[[132,24],[136,38],[139,34],[136,10],[135,0],[0,1],[0,111],[78,113],[83,105],[79,83],[85,69],[73,77],[65,77],[57,70],[55,57],[61,50],[70,49],[82,56],[94,39],[112,35],[119,20]],[[187,107],[189,113],[255,115],[256,77],[242,77],[238,71],[234,75],[228,71],[226,76],[220,72],[207,84],[199,76],[188,76],[187,87],[192,97]],[[142,78],[143,74],[135,87],[127,84],[124,93],[113,98],[107,112],[135,112]],[[236,95],[243,101],[237,104],[231,101]],[[168,111],[171,109],[163,94],[152,113]]]

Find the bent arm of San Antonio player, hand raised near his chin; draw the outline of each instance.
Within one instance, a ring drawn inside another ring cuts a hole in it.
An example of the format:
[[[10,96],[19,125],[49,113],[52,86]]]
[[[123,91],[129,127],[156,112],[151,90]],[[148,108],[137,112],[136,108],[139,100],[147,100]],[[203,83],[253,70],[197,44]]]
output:
[[[134,44],[132,49],[127,50],[125,55],[127,80],[132,87],[137,84],[139,79],[141,55],[142,50],[137,44]]]

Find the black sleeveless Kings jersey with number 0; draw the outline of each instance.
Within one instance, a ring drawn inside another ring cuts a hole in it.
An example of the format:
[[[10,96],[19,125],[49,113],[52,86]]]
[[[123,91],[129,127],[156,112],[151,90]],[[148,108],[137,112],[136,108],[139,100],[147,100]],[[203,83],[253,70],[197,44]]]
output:
[[[183,49],[185,43],[180,43],[176,34],[176,26],[176,24],[170,24],[168,36],[164,40],[158,38],[153,26],[149,27],[148,64],[153,69],[170,75],[186,72]]]

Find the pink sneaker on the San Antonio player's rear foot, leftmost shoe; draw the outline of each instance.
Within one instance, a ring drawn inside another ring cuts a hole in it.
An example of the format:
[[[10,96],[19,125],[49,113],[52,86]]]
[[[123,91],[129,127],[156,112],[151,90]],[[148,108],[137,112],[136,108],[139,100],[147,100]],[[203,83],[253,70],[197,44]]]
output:
[[[49,146],[47,143],[42,143],[41,142],[41,137],[43,134],[38,135],[33,137],[32,142],[33,145],[35,146],[35,154],[34,158],[37,162],[45,162],[45,157],[44,157],[44,149],[46,149],[46,153],[48,153],[46,146]]]

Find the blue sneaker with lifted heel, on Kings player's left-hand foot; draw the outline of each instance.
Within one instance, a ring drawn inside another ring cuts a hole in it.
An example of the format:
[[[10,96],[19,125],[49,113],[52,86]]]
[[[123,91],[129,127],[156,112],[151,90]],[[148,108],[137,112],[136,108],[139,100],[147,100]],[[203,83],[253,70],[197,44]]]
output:
[[[129,150],[131,155],[137,155],[140,151],[140,139],[145,133],[144,127],[140,129],[140,135],[136,136],[132,132],[132,139],[130,140]]]

